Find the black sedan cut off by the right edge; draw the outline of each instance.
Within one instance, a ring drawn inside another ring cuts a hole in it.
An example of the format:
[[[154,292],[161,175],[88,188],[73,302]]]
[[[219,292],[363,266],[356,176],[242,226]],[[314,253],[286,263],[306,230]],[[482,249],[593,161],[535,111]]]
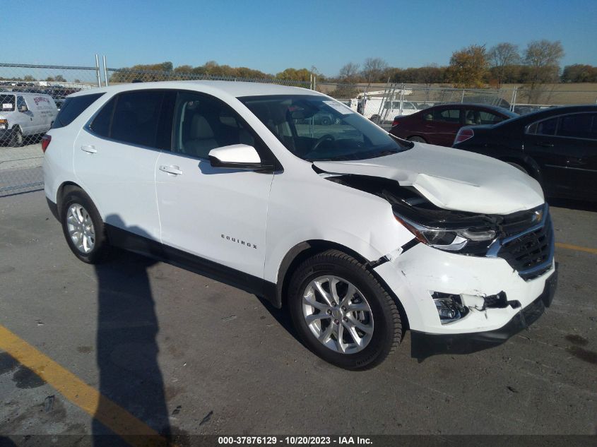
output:
[[[553,107],[495,126],[463,127],[454,148],[510,163],[548,196],[597,201],[597,106]]]

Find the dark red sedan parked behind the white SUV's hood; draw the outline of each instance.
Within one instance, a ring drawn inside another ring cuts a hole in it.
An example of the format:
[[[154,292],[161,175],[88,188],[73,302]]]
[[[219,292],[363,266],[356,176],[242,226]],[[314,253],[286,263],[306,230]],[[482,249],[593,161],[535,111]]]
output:
[[[390,133],[420,143],[451,146],[462,126],[495,124],[518,117],[502,107],[479,104],[442,104],[408,117],[396,117]]]

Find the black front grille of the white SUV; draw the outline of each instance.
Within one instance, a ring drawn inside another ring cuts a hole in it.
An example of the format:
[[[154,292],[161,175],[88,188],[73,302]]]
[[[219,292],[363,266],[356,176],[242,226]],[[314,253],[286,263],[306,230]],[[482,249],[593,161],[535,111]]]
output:
[[[531,280],[551,268],[553,231],[550,215],[538,230],[522,234],[504,244],[497,256],[504,258],[521,278]]]

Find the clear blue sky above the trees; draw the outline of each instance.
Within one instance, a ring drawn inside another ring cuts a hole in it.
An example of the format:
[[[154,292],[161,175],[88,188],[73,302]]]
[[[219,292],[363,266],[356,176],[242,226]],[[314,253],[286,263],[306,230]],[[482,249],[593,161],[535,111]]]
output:
[[[311,68],[336,76],[381,57],[406,68],[447,65],[470,44],[560,40],[562,66],[597,66],[597,0],[0,0],[0,62],[110,68]],[[23,20],[20,20],[22,18]]]

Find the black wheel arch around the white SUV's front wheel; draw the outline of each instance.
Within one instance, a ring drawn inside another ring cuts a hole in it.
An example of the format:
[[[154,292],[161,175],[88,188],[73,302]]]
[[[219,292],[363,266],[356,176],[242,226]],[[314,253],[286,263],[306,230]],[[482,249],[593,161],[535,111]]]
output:
[[[391,290],[384,279],[374,270],[372,263],[367,261],[366,258],[361,256],[353,249],[350,249],[342,244],[338,244],[337,242],[326,241],[324,239],[311,239],[309,241],[300,242],[288,251],[288,253],[282,259],[280,267],[278,268],[278,278],[276,281],[275,290],[272,290],[269,301],[278,309],[285,307],[286,299],[288,297],[288,285],[290,283],[290,278],[292,278],[292,273],[294,273],[297,267],[300,266],[300,264],[307,258],[330,249],[336,249],[345,254],[353,256],[353,258],[355,258],[357,261],[367,266],[372,275],[374,275],[382,287],[384,287],[384,289],[394,299],[394,302],[396,302],[396,306],[398,306],[398,312],[400,313],[403,323],[403,332],[408,329],[408,316],[406,315],[406,311],[404,310],[400,299],[396,296],[394,291]]]

